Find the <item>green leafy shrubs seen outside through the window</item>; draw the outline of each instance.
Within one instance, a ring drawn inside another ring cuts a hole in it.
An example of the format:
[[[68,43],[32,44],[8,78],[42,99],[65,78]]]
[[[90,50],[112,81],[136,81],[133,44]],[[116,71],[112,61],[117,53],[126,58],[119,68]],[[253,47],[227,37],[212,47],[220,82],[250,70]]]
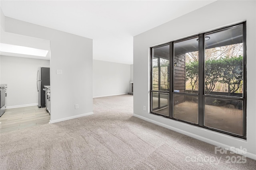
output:
[[[243,57],[221,57],[219,59],[208,59],[205,61],[205,90],[210,94],[216,88],[217,82],[228,88],[228,96],[234,94],[242,87],[243,81]],[[198,62],[186,63],[186,82],[190,82],[193,93],[198,82]],[[225,90],[222,89],[222,92]]]

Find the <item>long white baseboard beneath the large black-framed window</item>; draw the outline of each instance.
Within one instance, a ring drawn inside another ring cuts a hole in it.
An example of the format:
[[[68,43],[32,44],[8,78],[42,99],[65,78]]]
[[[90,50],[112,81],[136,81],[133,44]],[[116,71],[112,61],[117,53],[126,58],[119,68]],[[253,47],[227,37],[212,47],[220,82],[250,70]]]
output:
[[[213,141],[213,140],[211,140],[211,139],[208,139],[208,138],[205,138],[205,137],[201,137],[201,136],[196,135],[196,134],[194,134],[194,133],[190,133],[190,132],[187,132],[187,131],[183,131],[183,130],[178,129],[178,128],[176,128],[176,127],[172,127],[172,126],[170,126],[170,125],[166,125],[166,124],[164,124],[164,123],[160,123],[160,122],[158,122],[158,121],[154,121],[154,120],[152,120],[152,119],[148,119],[148,118],[143,117],[143,116],[140,116],[140,115],[133,114],[133,116],[134,116],[134,117],[138,117],[139,119],[143,119],[143,120],[145,120],[145,121],[148,121],[148,122],[150,122],[150,123],[154,123],[154,124],[156,124],[156,125],[165,127],[165,128],[170,129],[170,130],[172,130],[172,131],[176,131],[176,132],[178,132],[178,133],[182,133],[182,134],[184,134],[184,135],[187,135],[187,136],[189,136],[189,137],[198,139],[198,140],[200,140],[200,141],[204,141],[204,142],[209,143],[209,144],[214,145],[214,146],[218,146],[218,147],[221,147],[221,148],[224,148],[224,149],[225,149],[225,148],[231,148],[231,146],[225,145],[225,144],[223,144],[223,143],[219,143],[219,142]],[[240,153],[243,153],[243,151],[240,150],[239,148],[236,148],[236,150],[239,150],[239,151],[241,151]],[[252,154],[252,153],[250,153],[250,152],[246,152],[245,154],[241,154],[241,155],[256,160],[256,154]]]

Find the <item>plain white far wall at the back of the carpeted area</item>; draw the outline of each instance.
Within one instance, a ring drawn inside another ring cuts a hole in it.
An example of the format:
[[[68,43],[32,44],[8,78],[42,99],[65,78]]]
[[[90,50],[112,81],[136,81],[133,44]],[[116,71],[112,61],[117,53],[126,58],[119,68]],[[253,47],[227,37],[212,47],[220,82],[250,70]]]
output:
[[[93,97],[126,94],[130,88],[130,64],[93,60]]]

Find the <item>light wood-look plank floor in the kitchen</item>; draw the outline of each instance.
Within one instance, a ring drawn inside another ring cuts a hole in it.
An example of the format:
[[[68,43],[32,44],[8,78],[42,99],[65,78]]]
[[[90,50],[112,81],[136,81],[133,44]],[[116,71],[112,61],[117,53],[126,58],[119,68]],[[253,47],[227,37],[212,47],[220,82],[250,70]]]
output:
[[[43,125],[49,123],[49,121],[49,113],[45,108],[38,108],[38,106],[6,109],[0,117],[0,133]]]

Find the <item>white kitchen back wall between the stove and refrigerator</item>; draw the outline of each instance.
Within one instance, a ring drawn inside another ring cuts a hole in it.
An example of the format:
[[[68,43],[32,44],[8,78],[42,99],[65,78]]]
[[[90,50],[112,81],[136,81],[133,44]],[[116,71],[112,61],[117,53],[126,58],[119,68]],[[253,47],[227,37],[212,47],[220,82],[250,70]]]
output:
[[[8,86],[6,107],[37,105],[38,66],[50,67],[50,61],[3,55],[1,55],[0,61],[1,82]]]

